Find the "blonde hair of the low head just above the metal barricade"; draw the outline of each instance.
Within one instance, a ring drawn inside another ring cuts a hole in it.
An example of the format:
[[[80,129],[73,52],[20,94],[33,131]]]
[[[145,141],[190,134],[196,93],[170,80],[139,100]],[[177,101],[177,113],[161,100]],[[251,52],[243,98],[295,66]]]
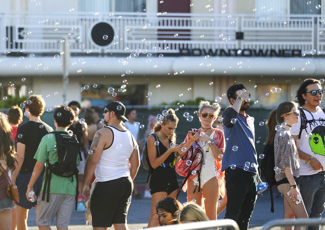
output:
[[[179,222],[198,222],[206,220],[209,220],[208,216],[204,213],[203,209],[194,202],[186,203],[178,215]]]

